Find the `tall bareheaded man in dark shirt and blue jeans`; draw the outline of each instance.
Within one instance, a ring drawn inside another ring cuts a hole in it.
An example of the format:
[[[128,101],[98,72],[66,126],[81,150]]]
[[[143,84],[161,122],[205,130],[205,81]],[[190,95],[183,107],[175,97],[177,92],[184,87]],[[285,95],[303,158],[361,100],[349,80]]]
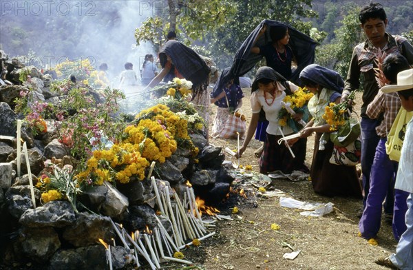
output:
[[[350,67],[347,74],[346,84],[341,101],[346,101],[350,92],[359,89],[360,76],[363,76],[363,104],[361,105],[361,171],[363,173],[363,209],[366,207],[368,191],[370,188],[370,169],[374,160],[379,135],[376,127],[380,125],[381,118],[370,119],[366,114],[367,106],[372,102],[379,91],[376,76],[374,74],[374,63],[376,55],[381,52],[386,54],[401,53],[410,65],[413,64],[413,47],[407,39],[385,32],[388,24],[387,15],[383,6],[379,3],[370,3],[364,6],[359,13],[361,28],[367,36],[367,40],[357,45],[352,54]],[[387,204],[385,212],[392,214],[393,206]],[[361,216],[360,216],[361,217]]]

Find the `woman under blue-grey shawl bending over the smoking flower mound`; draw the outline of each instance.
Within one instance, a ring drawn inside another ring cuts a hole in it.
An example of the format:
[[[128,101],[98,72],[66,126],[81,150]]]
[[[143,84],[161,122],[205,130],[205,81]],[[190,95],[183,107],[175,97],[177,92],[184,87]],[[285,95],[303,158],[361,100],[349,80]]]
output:
[[[153,78],[147,87],[154,87],[164,79],[173,69],[176,77],[192,82],[192,102],[198,114],[205,121],[204,132],[208,139],[209,107],[210,99],[208,94],[209,72],[207,63],[191,48],[184,44],[169,40],[160,49],[159,61],[162,70]],[[147,90],[147,88],[145,88]]]

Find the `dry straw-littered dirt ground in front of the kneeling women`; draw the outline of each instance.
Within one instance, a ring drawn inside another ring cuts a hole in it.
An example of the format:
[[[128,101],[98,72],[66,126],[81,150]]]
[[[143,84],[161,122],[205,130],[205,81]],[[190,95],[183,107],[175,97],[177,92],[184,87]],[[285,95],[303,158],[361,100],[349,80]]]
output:
[[[251,118],[249,96],[251,90],[245,89],[242,112],[247,121]],[[357,100],[361,100],[358,93]],[[361,102],[357,102],[360,106]],[[356,106],[357,106],[356,105]],[[212,106],[215,113],[215,106]],[[359,111],[359,109],[357,109]],[[214,114],[212,114],[213,117]],[[249,123],[249,122],[248,122]],[[215,146],[236,149],[237,140],[211,139]],[[313,154],[313,138],[307,144],[306,163],[310,166]],[[258,172],[255,149],[260,143],[252,140],[243,154],[240,164],[252,165]],[[226,160],[236,162],[227,155]],[[248,186],[248,185],[247,185]],[[257,187],[249,186],[249,194],[255,198],[242,198],[237,194],[231,203],[222,203],[222,214],[231,215],[233,220],[217,222],[216,235],[202,241],[200,247],[190,247],[182,251],[196,267],[169,269],[381,269],[374,260],[395,251],[396,240],[392,235],[391,225],[382,221],[377,242],[370,245],[367,240],[357,236],[357,213],[361,209],[361,200],[351,198],[327,198],[313,191],[310,181],[292,182],[273,180],[271,188],[280,189],[286,196],[311,203],[334,204],[334,211],[326,216],[315,218],[301,216],[301,210],[288,209],[279,205],[279,197],[267,197],[259,194]],[[248,189],[248,188],[247,188]],[[269,190],[270,188],[267,188]],[[253,195],[255,194],[255,195]],[[231,200],[231,197],[230,199]],[[232,207],[238,207],[238,214],[231,214]],[[271,229],[276,223],[279,230]],[[289,247],[288,247],[289,246]],[[294,260],[283,258],[284,253],[300,250]],[[384,269],[384,268],[383,268]]]

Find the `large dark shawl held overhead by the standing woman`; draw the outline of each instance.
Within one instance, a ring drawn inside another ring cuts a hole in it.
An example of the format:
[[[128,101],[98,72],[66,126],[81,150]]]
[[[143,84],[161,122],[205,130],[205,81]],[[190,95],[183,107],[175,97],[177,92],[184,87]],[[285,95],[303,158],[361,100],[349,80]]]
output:
[[[257,36],[264,24],[267,25],[266,32],[259,39],[257,39]],[[250,71],[263,57],[260,54],[251,53],[251,48],[253,48],[253,46],[262,46],[272,43],[270,34],[271,28],[277,28],[280,26],[287,27],[288,33],[290,34],[290,41],[288,42],[288,45],[290,45],[295,59],[297,60],[297,70],[293,72],[290,81],[297,83],[297,80],[299,79],[299,72],[301,72],[301,70],[307,65],[314,63],[315,46],[317,43],[306,34],[295,30],[295,28],[292,28],[290,25],[272,20],[262,21],[259,25],[257,25],[253,32],[249,34],[244,43],[242,43],[240,49],[238,49],[235,54],[229,77],[244,76],[246,72]],[[255,39],[257,39],[257,42],[254,45]]]

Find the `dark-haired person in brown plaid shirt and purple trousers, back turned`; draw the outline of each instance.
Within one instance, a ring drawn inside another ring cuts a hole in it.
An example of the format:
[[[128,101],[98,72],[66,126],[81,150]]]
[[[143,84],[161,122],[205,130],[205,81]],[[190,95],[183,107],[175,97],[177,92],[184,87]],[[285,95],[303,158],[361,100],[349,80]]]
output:
[[[410,65],[401,54],[390,54],[383,61],[383,74],[392,85],[397,83],[397,74],[408,69],[410,69]],[[401,234],[406,229],[404,217],[407,210],[405,202],[408,195],[405,191],[394,190],[394,180],[399,164],[396,161],[390,160],[385,152],[387,134],[390,132],[400,107],[400,98],[395,92],[388,94],[379,92],[367,107],[366,114],[370,119],[377,119],[383,116],[383,121],[376,127],[380,141],[376,147],[370,172],[370,190],[366,200],[366,207],[359,222],[361,237],[366,239],[375,238],[379,232],[383,200],[386,195],[399,198],[396,207],[394,207],[394,216],[391,215],[392,220],[390,220],[393,223],[394,238],[399,240]],[[389,198],[388,201],[394,201],[394,198]]]

